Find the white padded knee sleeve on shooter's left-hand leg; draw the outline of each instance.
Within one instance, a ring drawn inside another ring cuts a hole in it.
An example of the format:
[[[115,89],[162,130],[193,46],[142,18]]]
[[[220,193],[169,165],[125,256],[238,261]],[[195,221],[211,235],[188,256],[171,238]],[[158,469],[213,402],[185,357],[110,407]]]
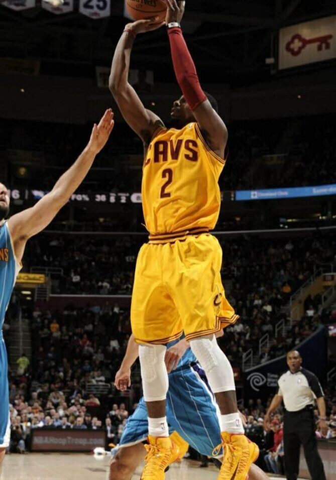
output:
[[[146,402],[165,400],[168,374],[165,365],[165,345],[140,345],[142,387]]]

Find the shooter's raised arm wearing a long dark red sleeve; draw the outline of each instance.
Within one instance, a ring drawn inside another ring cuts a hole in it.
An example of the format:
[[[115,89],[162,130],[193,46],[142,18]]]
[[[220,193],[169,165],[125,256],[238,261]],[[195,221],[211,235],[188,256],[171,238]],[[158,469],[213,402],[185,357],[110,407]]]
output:
[[[180,23],[184,13],[185,2],[175,2],[175,8],[167,2],[166,24]],[[194,62],[183,38],[180,27],[168,28],[168,37],[176,79],[184,98],[191,108],[197,123],[205,136],[208,146],[221,158],[224,158],[228,141],[227,128],[212,108],[203,92]]]

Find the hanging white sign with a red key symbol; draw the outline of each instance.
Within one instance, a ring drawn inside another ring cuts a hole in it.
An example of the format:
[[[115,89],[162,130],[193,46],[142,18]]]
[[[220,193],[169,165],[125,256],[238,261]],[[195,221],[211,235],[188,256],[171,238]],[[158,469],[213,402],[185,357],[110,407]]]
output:
[[[336,15],[282,28],[279,70],[336,58]]]

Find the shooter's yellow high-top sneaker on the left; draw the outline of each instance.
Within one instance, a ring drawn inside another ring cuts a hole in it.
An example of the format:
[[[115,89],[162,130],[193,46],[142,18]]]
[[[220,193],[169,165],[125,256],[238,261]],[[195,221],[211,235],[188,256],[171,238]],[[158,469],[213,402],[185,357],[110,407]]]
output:
[[[164,480],[166,468],[178,459],[180,450],[169,437],[148,436],[149,445],[141,480]]]

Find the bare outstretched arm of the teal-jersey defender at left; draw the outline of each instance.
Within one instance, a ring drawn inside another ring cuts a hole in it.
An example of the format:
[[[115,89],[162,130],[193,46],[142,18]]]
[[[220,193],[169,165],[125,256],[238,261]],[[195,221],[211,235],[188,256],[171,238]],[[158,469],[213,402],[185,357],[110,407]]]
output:
[[[89,171],[98,152],[104,147],[113,130],[113,111],[108,109],[94,124],[90,140],[75,163],[59,178],[54,188],[33,207],[13,215],[8,226],[13,239],[15,255],[21,261],[28,238],[43,230],[67,203]]]

